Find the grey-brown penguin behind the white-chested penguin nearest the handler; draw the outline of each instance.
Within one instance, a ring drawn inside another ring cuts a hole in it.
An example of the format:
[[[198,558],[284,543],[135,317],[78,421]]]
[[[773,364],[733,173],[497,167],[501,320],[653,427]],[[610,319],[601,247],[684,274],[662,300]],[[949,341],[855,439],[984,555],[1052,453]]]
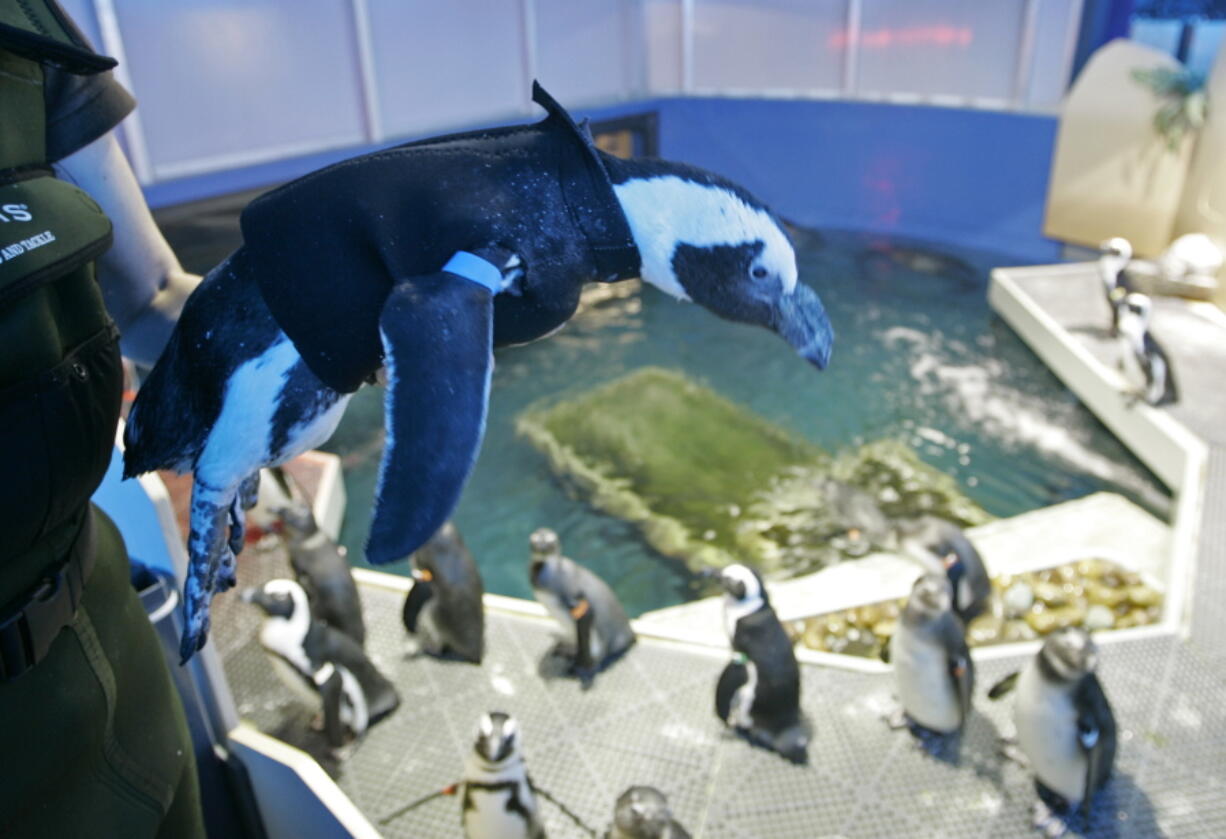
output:
[[[365,644],[362,600],[345,548],[319,529],[308,504],[278,508],[276,514],[289,548],[289,565],[306,591],[311,615],[358,644]]]

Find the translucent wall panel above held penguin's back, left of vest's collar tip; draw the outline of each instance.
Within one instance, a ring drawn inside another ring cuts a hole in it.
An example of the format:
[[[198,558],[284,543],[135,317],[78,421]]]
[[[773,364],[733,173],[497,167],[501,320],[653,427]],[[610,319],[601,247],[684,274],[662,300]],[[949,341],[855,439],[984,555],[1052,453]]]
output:
[[[524,109],[524,15],[512,0],[367,0],[384,135]]]

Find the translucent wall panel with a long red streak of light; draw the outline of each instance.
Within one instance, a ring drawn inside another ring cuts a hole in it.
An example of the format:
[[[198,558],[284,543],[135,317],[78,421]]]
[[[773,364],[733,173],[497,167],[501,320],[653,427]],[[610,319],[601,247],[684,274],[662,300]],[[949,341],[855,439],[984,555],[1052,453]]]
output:
[[[866,0],[857,90],[1010,99],[1022,5],[1022,0]]]

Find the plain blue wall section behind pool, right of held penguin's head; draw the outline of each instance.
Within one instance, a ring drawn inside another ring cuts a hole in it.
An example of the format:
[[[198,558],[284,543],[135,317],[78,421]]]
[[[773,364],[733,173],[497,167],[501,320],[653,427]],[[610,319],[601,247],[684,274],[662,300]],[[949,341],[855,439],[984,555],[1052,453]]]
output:
[[[864,102],[658,107],[663,157],[741,182],[802,226],[1059,255],[1041,234],[1054,118]]]

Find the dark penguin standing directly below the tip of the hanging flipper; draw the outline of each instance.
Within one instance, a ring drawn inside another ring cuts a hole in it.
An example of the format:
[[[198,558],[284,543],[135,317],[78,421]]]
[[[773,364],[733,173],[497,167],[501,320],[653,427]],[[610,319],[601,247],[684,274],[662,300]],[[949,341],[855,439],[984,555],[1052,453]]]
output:
[[[460,531],[447,521],[409,559],[413,588],[405,597],[405,629],[427,655],[481,664],[485,651],[484,589]]]

